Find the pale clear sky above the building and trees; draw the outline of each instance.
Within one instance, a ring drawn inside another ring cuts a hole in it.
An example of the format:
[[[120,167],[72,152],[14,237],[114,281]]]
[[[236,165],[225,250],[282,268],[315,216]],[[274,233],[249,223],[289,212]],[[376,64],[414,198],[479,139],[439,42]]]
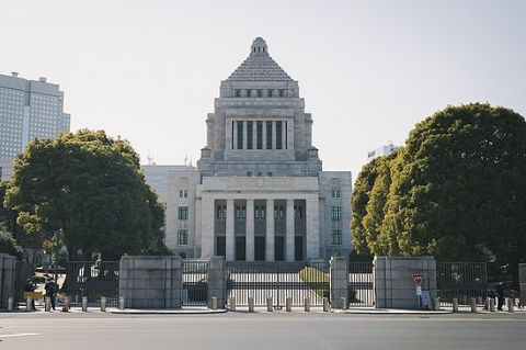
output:
[[[219,83],[256,36],[299,81],[325,170],[352,170],[447,104],[526,115],[526,1],[1,0],[0,72],[47,77],[71,129],[195,161]]]

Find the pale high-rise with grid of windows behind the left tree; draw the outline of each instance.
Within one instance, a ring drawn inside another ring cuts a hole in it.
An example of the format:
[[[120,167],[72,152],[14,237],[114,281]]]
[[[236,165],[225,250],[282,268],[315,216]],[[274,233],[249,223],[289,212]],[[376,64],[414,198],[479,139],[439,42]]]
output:
[[[64,113],[64,92],[46,78],[26,80],[16,72],[0,75],[0,165],[2,178],[34,138],[55,138],[69,132],[70,116]]]

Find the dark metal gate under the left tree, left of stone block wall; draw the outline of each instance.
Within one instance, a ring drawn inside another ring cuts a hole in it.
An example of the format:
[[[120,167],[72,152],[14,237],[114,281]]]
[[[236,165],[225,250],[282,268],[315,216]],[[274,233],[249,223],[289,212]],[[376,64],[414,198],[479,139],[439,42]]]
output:
[[[118,272],[118,261],[68,261],[64,291],[70,305],[78,306],[88,296],[88,305],[99,306],[105,296],[107,306],[117,306]]]

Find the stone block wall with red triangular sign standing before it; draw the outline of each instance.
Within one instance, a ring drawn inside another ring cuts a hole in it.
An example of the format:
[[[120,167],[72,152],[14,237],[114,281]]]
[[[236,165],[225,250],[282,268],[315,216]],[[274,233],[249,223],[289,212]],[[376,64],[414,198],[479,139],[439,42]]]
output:
[[[415,283],[412,275],[423,273],[422,290],[436,297],[436,261],[433,257],[375,257],[373,276],[376,307],[419,309]],[[433,307],[433,306],[431,306]]]

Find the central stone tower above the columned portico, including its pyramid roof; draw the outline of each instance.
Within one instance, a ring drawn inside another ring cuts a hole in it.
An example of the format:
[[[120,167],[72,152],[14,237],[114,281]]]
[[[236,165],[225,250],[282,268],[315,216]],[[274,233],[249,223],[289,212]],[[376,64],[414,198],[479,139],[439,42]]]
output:
[[[298,82],[268,55],[261,37],[221,81],[206,125],[207,146],[197,162],[203,177],[317,177],[321,171]]]

